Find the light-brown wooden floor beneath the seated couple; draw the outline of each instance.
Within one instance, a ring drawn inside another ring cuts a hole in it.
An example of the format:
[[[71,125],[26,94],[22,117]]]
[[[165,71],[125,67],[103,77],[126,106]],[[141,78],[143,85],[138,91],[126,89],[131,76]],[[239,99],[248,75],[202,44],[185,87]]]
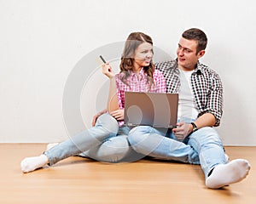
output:
[[[142,160],[108,164],[77,156],[54,167],[21,173],[20,161],[46,144],[0,144],[0,203],[255,203],[256,147],[226,147],[230,159],[245,158],[251,172],[239,184],[209,190],[201,167]]]

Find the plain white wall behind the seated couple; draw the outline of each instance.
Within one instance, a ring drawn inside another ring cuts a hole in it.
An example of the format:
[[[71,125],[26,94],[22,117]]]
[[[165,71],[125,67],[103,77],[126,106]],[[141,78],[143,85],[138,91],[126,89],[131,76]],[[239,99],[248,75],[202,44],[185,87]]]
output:
[[[209,39],[201,61],[224,83],[224,144],[256,145],[255,25],[253,0],[0,0],[0,142],[68,137],[62,97],[84,55],[143,31],[174,58],[181,33],[199,27]],[[108,89],[96,66],[84,65],[85,127]]]

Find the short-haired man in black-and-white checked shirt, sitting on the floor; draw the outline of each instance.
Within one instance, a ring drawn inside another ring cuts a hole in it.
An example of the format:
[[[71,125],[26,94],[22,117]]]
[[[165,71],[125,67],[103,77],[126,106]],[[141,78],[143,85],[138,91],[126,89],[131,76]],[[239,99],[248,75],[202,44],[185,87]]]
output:
[[[178,42],[177,59],[156,64],[166,77],[167,92],[179,94],[177,127],[134,127],[128,139],[137,153],[201,164],[207,187],[218,189],[246,178],[250,164],[243,159],[226,162],[213,128],[223,112],[223,86],[218,74],[199,62],[206,47],[206,34],[189,29]]]

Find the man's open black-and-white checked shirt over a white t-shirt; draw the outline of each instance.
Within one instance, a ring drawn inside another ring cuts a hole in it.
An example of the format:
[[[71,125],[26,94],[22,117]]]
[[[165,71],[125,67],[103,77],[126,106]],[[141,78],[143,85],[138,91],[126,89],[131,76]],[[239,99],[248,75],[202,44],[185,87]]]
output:
[[[177,60],[155,64],[166,78],[166,92],[178,93],[180,87]],[[214,126],[218,126],[223,113],[223,86],[220,77],[207,65],[197,63],[191,75],[191,84],[199,115],[212,113],[216,118]]]

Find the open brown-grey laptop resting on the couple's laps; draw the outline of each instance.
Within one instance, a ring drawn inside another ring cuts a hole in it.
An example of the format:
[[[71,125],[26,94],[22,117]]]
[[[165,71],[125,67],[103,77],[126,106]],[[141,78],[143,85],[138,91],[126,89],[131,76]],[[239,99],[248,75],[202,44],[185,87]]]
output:
[[[176,127],[178,94],[125,92],[125,125]]]

